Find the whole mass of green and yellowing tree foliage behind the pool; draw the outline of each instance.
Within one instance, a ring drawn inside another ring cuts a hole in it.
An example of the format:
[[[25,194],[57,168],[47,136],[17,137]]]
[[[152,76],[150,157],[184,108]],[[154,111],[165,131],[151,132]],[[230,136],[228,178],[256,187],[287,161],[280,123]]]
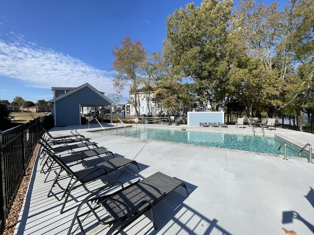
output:
[[[125,37],[113,50],[117,94],[126,85],[134,94],[153,89],[172,114],[194,102],[248,116],[313,112],[314,0],[290,0],[282,11],[277,2],[232,6],[203,0],[175,10],[162,54],[146,56],[140,41]],[[138,95],[130,101],[138,107]]]

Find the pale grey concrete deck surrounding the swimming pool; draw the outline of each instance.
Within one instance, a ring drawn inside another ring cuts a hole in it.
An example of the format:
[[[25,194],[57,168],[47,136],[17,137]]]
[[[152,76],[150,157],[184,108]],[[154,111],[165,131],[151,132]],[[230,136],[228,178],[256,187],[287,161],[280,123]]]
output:
[[[116,126],[104,124],[104,128]],[[135,124],[132,124],[135,125]],[[152,125],[147,127],[225,131],[252,134],[252,128],[199,127],[187,125]],[[122,127],[121,124],[118,127]],[[155,207],[157,231],[150,215],[141,216],[122,234],[126,235],[284,235],[282,230],[294,230],[298,235],[314,234],[314,164],[307,159],[267,155],[212,147],[163,141],[139,140],[123,136],[104,135],[99,124],[54,127],[52,134],[79,133],[105,147],[116,156],[137,161],[140,170],[130,165],[109,174],[110,181],[130,184],[157,171],[183,180],[178,188]],[[256,128],[256,135],[261,135]],[[314,146],[314,135],[285,130],[266,130],[265,135],[278,135],[303,147]],[[308,150],[309,148],[307,148]],[[312,161],[313,162],[313,161]],[[15,229],[16,235],[63,235],[73,219],[79,202],[88,191],[103,185],[102,180],[75,189],[60,214],[61,202],[47,197],[51,182],[44,183],[37,159],[26,193],[24,205]],[[52,177],[54,174],[51,174]],[[98,225],[92,215],[83,223],[87,235],[105,234],[108,227]],[[76,230],[73,234],[80,234]]]

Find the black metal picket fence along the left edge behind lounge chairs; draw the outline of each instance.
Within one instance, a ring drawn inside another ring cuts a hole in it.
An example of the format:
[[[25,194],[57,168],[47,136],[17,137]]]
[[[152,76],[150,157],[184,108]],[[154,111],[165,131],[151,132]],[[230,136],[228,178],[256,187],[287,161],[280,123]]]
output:
[[[53,127],[53,117],[40,117],[0,132],[0,234],[37,141],[39,127]]]

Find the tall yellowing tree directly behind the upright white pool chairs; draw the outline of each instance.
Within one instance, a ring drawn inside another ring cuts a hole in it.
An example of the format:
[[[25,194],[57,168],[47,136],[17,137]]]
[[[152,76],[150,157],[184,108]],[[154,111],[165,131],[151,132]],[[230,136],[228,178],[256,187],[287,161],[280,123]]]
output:
[[[228,34],[228,94],[240,100],[248,117],[272,99],[281,87],[273,69],[274,27],[278,5],[256,5],[254,0],[239,0]]]

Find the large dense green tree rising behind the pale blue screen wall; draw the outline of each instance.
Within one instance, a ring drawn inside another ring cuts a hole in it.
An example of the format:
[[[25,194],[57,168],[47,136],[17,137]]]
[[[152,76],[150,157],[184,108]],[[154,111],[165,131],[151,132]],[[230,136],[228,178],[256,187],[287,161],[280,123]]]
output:
[[[166,19],[164,57],[172,74],[192,79],[194,93],[204,103],[219,105],[224,100],[232,5],[232,0],[204,0],[197,8],[189,3]]]

